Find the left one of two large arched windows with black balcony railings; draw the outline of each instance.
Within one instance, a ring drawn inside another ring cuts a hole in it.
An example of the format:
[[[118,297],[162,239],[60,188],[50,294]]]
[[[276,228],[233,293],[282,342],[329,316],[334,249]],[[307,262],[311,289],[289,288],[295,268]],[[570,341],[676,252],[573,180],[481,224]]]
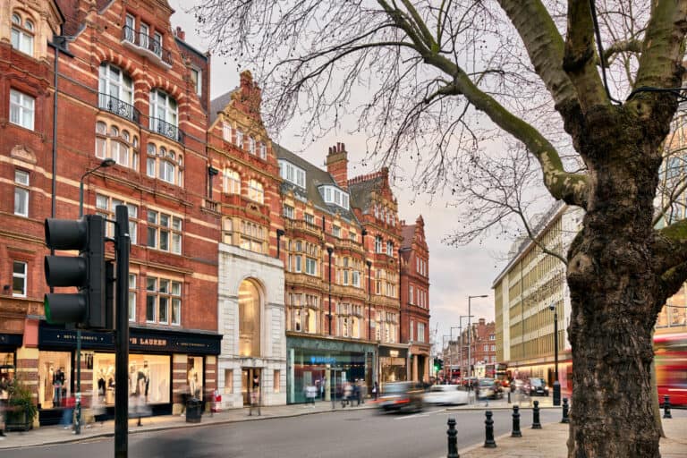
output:
[[[98,106],[131,121],[138,121],[133,107],[133,83],[122,69],[109,63],[100,64]]]

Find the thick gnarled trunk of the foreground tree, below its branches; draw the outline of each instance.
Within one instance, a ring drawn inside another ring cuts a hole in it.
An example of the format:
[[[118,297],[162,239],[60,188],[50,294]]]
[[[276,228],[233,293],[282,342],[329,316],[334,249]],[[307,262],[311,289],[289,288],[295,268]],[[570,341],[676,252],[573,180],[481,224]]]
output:
[[[651,336],[660,293],[649,240],[660,152],[646,131],[608,119],[591,120],[589,140],[581,140],[591,189],[583,229],[568,253],[568,456],[656,458]]]

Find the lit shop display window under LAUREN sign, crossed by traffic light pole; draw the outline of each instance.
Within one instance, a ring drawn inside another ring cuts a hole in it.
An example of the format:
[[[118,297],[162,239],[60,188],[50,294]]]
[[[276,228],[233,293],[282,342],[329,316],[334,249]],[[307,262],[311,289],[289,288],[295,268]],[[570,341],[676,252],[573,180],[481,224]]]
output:
[[[170,360],[165,355],[129,355],[129,394],[146,403],[169,403]],[[93,399],[114,405],[114,353],[96,353],[93,361]]]

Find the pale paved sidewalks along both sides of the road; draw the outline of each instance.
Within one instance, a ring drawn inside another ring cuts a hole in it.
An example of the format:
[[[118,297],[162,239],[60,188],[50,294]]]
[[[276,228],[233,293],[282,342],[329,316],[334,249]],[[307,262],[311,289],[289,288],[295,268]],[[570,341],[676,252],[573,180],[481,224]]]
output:
[[[532,401],[532,400],[530,400]],[[542,409],[560,409],[551,405],[551,398],[541,398],[539,407]],[[530,403],[519,403],[522,409],[529,409]],[[481,402],[472,402],[471,405],[455,406],[446,409],[449,416],[452,412],[464,410],[499,410],[511,409],[512,403],[507,399],[489,401],[488,405]],[[169,430],[174,428],[202,428],[208,425],[226,424],[237,421],[259,421],[274,418],[298,417],[311,414],[335,414],[337,411],[350,411],[360,409],[372,409],[376,405],[368,400],[367,403],[356,407],[341,408],[341,403],[336,404],[332,411],[330,402],[318,402],[315,406],[304,404],[279,405],[262,407],[261,415],[254,412],[249,415],[247,408],[231,409],[205,413],[200,423],[187,423],[185,417],[179,415],[165,415],[141,419],[141,426],[137,426],[138,420],[129,420],[129,433],[140,434],[143,432]],[[674,419],[663,420],[666,437],[661,439],[660,450],[663,458],[687,458],[687,416],[674,415]],[[567,455],[566,441],[568,437],[568,425],[563,423],[545,423],[542,429],[531,429],[529,425],[521,424],[522,437],[510,437],[505,435],[495,437],[496,448],[484,448],[483,444],[476,444],[459,448],[458,453],[462,458],[550,458],[565,457]],[[8,432],[6,438],[0,440],[0,454],[3,451],[26,446],[66,444],[88,441],[100,437],[114,437],[114,420],[86,425],[81,429],[80,435],[75,435],[70,429],[59,426],[48,426],[32,429],[26,432]],[[462,445],[459,444],[459,447]]]

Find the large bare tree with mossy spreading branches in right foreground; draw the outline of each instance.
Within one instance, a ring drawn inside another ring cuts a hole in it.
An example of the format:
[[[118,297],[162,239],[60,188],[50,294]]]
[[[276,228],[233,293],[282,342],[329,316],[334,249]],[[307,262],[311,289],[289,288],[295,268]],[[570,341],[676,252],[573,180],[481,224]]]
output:
[[[687,221],[655,229],[653,204],[687,0],[209,0],[196,14],[261,77],[268,125],[300,114],[318,136],[354,114],[370,154],[413,161],[420,187],[452,188],[502,135],[522,144],[547,192],[586,212],[566,256],[568,455],[659,456],[651,335],[687,278]],[[502,157],[496,182],[526,160]]]

